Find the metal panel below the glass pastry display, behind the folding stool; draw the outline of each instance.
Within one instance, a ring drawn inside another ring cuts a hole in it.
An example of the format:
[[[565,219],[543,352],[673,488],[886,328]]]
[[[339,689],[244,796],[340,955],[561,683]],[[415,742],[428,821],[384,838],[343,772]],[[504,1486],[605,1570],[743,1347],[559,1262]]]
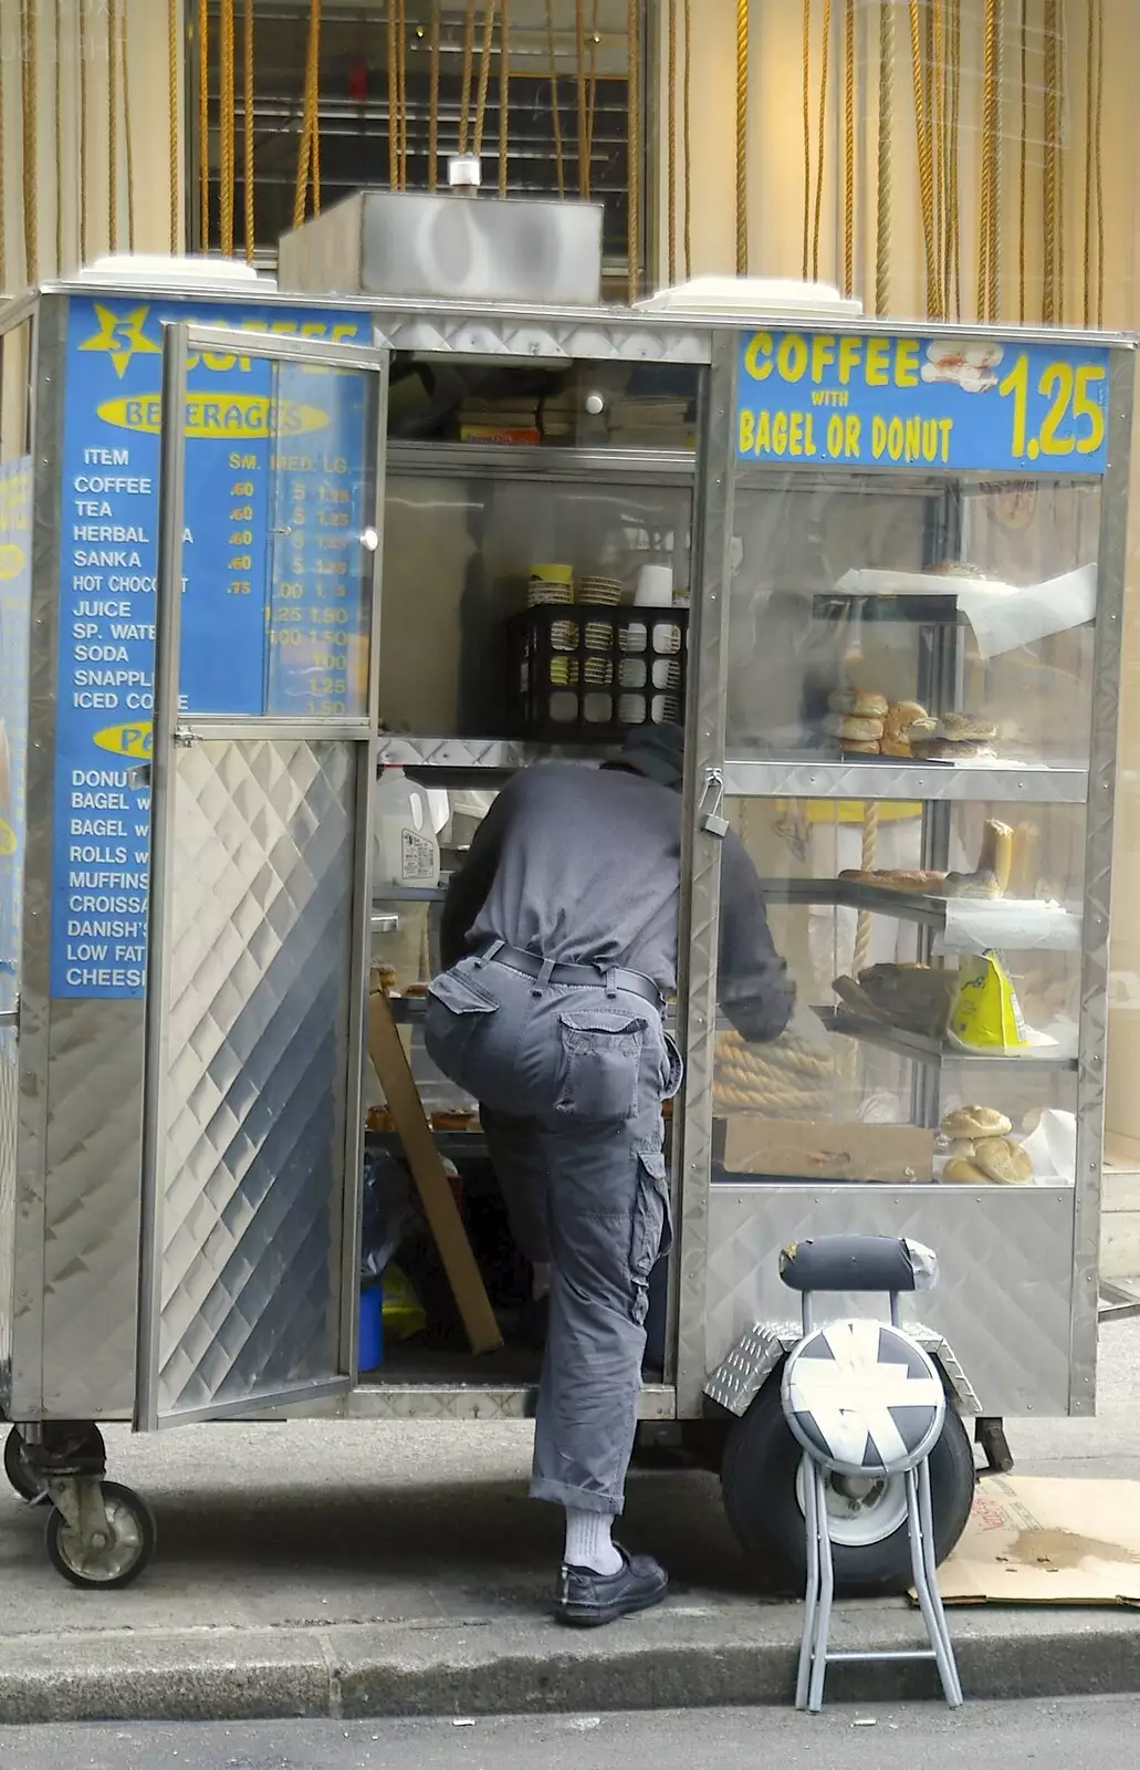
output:
[[[938,1285],[905,1297],[903,1315],[926,1322],[954,1347],[982,1414],[1067,1412],[1069,1188],[713,1186],[710,1372],[758,1322],[788,1320],[791,1294],[779,1278],[779,1250],[846,1232],[912,1235],[935,1250]],[[827,1310],[867,1315],[867,1303],[836,1296],[827,1297]]]

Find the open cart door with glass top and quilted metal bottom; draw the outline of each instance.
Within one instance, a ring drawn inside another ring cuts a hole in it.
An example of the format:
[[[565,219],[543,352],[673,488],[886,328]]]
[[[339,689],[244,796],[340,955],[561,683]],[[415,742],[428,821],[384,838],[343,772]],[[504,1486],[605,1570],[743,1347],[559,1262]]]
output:
[[[352,1370],[386,377],[166,329],[140,1430]]]

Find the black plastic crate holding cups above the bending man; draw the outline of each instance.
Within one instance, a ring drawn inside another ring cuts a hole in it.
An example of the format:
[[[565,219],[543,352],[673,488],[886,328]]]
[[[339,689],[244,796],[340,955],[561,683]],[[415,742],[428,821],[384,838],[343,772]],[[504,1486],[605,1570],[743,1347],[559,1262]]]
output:
[[[689,609],[542,604],[506,621],[510,736],[604,743],[683,724]]]

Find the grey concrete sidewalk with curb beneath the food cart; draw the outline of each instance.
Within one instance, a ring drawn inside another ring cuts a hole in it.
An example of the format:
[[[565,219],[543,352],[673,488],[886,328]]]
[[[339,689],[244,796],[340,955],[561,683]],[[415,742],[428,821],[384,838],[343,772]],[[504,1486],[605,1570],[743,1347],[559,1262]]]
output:
[[[1140,1320],[1103,1331],[1101,1416],[1018,1421],[1021,1473],[1140,1478]],[[559,1513],[526,1501],[529,1427],[340,1423],[108,1432],[152,1504],[136,1586],[76,1591],[44,1510],[0,1492],[0,1722],[474,1715],[788,1701],[800,1607],[756,1591],[713,1476],[641,1471],[625,1542],[666,1609],[570,1634],[547,1616]],[[1140,1690],[1129,1611],[956,1611],[968,1696]],[[903,1600],[843,1604],[834,1644],[922,1644]],[[837,1667],[834,1696],[933,1696],[917,1667]]]

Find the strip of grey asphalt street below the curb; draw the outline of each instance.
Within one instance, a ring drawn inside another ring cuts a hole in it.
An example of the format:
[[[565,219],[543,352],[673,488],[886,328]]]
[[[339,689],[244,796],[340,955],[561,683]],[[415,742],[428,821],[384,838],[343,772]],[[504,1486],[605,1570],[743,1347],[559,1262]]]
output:
[[[2,1770],[1105,1770],[1136,1763],[1135,1697],[689,1710],[506,1720],[0,1729]]]

